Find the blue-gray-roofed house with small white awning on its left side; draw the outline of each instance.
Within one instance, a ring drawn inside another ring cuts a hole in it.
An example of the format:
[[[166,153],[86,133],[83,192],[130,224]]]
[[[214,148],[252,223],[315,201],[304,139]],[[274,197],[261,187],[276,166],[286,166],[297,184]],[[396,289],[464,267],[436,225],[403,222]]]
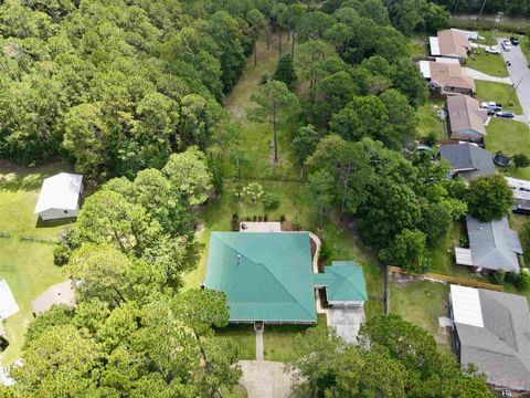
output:
[[[469,249],[455,248],[458,265],[470,266],[476,272],[502,270],[519,273],[521,241],[517,231],[510,229],[507,217],[481,222],[467,214],[466,227]]]

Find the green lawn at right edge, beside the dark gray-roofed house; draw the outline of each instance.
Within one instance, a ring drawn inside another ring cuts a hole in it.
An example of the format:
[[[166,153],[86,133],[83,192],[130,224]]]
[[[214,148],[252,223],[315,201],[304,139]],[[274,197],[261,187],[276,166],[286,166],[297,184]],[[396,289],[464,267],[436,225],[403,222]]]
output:
[[[486,149],[491,154],[501,150],[505,155],[524,154],[530,156],[530,129],[526,123],[492,119],[486,127]],[[511,165],[506,174],[522,179],[530,179],[530,168],[516,170]]]

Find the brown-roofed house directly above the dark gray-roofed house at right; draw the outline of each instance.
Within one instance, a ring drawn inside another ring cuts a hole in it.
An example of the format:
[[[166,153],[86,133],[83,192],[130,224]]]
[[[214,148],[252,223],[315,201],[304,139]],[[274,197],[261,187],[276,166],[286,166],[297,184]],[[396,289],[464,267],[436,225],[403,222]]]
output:
[[[447,130],[452,139],[483,143],[486,135],[485,123],[488,111],[468,95],[448,95],[446,109],[448,114]]]

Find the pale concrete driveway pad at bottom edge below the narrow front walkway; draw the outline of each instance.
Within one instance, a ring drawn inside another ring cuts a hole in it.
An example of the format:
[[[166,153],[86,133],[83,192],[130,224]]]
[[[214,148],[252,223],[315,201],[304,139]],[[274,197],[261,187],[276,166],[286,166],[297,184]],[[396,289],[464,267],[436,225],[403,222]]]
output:
[[[284,364],[272,360],[240,360],[243,370],[240,384],[248,398],[288,398],[293,373],[284,371]]]

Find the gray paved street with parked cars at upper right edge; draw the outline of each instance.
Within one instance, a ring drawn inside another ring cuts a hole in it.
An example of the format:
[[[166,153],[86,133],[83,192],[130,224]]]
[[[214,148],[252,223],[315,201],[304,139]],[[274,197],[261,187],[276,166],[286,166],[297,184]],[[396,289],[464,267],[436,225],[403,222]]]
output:
[[[498,41],[499,44],[502,42],[500,39],[498,39]],[[511,62],[508,71],[510,72],[513,84],[519,85],[517,96],[519,97],[524,117],[528,122],[530,121],[530,69],[528,67],[527,57],[519,45],[513,45],[509,52],[501,50],[501,53],[505,61]]]

